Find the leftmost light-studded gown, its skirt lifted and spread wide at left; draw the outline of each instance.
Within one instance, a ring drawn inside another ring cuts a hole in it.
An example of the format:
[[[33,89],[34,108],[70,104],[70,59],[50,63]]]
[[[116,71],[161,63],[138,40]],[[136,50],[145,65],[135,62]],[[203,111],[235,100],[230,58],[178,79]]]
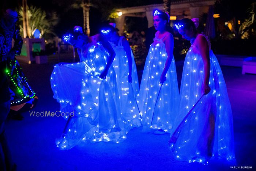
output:
[[[67,134],[56,140],[57,147],[70,149],[83,141],[125,140],[130,126],[121,116],[113,67],[106,80],[99,78],[108,53],[94,43],[81,50],[80,58],[83,62],[55,65],[51,75],[53,97],[60,103],[60,111],[75,113],[65,128]]]

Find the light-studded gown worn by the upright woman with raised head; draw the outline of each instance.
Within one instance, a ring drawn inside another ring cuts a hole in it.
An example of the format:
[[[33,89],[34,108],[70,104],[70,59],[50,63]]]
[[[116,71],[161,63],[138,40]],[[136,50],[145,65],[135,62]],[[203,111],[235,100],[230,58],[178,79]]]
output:
[[[158,38],[157,32],[148,52],[137,97],[143,132],[156,129],[172,132],[179,93],[174,57],[166,73],[166,81],[162,87],[159,84],[166,59],[165,43]]]

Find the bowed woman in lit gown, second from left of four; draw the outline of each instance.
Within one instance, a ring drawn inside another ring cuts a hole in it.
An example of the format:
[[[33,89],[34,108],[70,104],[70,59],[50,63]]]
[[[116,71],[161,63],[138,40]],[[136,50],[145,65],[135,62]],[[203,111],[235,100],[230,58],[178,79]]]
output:
[[[141,118],[136,102],[139,81],[131,47],[125,37],[116,33],[113,26],[105,26],[101,32],[108,39],[116,53],[113,66],[116,72],[122,115],[132,127],[139,127],[141,126]]]

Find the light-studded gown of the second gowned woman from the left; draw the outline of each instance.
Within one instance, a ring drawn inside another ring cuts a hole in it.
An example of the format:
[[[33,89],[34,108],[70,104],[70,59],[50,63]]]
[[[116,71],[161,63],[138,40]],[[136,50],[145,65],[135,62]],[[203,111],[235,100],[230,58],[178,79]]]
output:
[[[121,112],[132,127],[141,126],[140,112],[136,102],[136,96],[139,92],[139,81],[137,75],[136,64],[132,55],[132,83],[128,81],[129,65],[127,54],[122,46],[122,39],[120,37],[118,45],[110,42],[116,57],[113,61],[114,71],[116,72],[116,82],[118,87],[119,98],[121,102]]]

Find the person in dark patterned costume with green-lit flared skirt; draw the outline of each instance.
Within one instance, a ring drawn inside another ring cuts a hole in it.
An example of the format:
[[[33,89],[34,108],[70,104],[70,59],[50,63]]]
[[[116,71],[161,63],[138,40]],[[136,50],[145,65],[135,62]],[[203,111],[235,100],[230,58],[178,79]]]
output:
[[[11,10],[7,9],[4,18],[0,20],[0,32],[5,37],[5,46],[8,53],[4,56],[7,61],[6,76],[11,94],[11,110],[12,118],[22,120],[22,112],[30,110],[37,102],[37,96],[28,84],[26,77],[22,72],[18,61],[15,59],[15,54],[20,54],[23,40],[19,34],[19,28],[15,26],[18,15],[12,19],[10,16]],[[11,18],[10,23],[6,18]],[[12,39],[15,43],[12,47]]]

